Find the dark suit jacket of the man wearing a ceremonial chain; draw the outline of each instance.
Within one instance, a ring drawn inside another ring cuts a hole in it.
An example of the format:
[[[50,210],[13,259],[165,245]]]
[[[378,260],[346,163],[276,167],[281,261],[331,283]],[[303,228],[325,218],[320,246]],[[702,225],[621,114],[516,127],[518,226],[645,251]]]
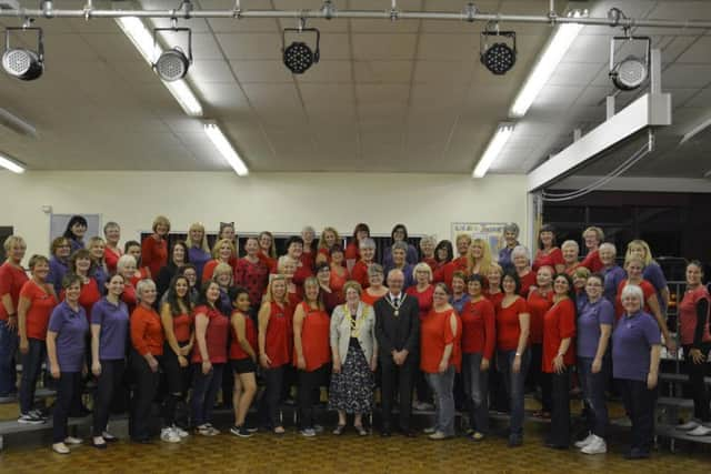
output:
[[[378,351],[383,357],[390,357],[393,350],[407,349],[410,354],[420,347],[420,306],[417,297],[400,293],[404,299],[400,302],[398,316],[389,304],[390,294],[375,302],[375,337]],[[388,300],[388,301],[387,301]]]

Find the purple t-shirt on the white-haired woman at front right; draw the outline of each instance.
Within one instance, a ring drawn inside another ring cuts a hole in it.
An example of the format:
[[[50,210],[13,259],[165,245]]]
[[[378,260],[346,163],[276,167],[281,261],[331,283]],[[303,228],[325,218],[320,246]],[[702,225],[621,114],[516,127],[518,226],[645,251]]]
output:
[[[612,333],[612,375],[614,379],[644,382],[649,374],[652,345],[661,344],[657,320],[640,311],[623,315]]]

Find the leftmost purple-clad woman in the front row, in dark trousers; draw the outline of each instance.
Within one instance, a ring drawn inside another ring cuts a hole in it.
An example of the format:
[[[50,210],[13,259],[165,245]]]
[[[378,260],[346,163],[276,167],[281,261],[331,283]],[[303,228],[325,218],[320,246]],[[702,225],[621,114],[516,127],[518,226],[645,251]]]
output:
[[[57,399],[52,426],[52,451],[69,454],[70,445],[81,443],[80,438],[67,435],[67,418],[71,402],[86,373],[86,336],[89,331],[87,313],[79,304],[81,279],[68,274],[62,281],[64,301],[52,311],[47,331],[47,355],[50,373],[57,380]]]

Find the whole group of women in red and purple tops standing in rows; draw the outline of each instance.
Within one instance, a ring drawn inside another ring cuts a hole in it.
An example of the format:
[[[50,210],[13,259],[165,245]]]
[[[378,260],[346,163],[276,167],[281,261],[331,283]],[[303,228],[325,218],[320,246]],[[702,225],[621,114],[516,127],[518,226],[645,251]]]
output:
[[[431,438],[453,435],[452,392],[458,389],[451,383],[457,372],[471,440],[489,433],[490,394],[493,402],[505,393],[509,445],[521,445],[528,385],[541,391],[537,415],[551,418],[547,445],[568,448],[571,374],[577,372],[590,433],[575,446],[587,454],[607,452],[605,391],[612,376],[632,421],[628,457],[649,456],[661,346],[671,352],[677,346],[665,323],[669,289],[643,241],[629,243],[620,268],[614,245],[604,243],[599,228],[583,232],[587,253],[581,261],[578,243],[558,246],[548,225],[540,230],[531,260],[517,240],[515,224],[504,229],[498,255],[485,239],[469,235],[458,235],[454,245],[423,238],[418,251],[408,242],[405,226],[398,224],[381,265],[363,223],[346,248],[336,229],[323,229],[317,242],[307,226],[289,239],[279,258],[269,232],[248,238],[240,258],[231,223],[220,224],[212,249],[200,223],[170,248],[169,220],[157,218],[152,229],[141,243],[128,241],[120,248],[120,226],[110,222],[104,239],[84,242],[87,222],[74,216],[66,234],[51,243],[49,259],[30,258],[29,278],[22,266],[24,241],[10,236],[4,242],[0,396],[17,390],[12,361],[19,349],[18,421],[43,423],[46,414],[33,402],[47,360],[57,386],[57,453],[69,453],[70,445],[81,442],[68,436],[67,420],[81,406],[87,377],[97,384],[91,444],[106,448],[116,440],[108,420],[126,374],[131,381],[129,431],[136,442],[150,441],[151,405],[161,377],[161,440],[180,442],[188,426],[200,435],[218,434],[211,413],[224,380],[232,381],[230,431],[251,436],[256,428],[246,418],[258,372],[266,385],[259,406],[263,427],[284,432],[280,401],[296,385],[299,431],[317,435],[322,427],[314,405],[320,387],[328,386],[328,407],[338,412],[333,433],[341,434],[352,414],[357,433],[367,435],[363,415],[373,410],[382,360],[377,334],[381,315],[373,305],[385,299],[398,316],[400,305],[412,297],[419,309],[417,350],[393,351],[392,360],[398,365],[405,357],[418,361],[415,407],[425,407],[432,394],[437,401],[435,426],[425,430]],[[702,278],[702,265],[689,263],[679,305],[679,336],[695,406],[694,420],[679,428],[697,435],[711,433],[703,382],[711,350],[710,297]],[[400,393],[400,399],[411,395]],[[188,400],[189,424],[177,417],[177,406]]]

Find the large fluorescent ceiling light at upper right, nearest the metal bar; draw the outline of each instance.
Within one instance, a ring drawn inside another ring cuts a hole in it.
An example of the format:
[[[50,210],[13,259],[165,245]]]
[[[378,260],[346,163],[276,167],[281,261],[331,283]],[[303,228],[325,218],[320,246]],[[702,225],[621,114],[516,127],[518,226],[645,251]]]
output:
[[[580,18],[584,13],[575,11],[572,17]],[[523,87],[519,91],[519,94],[509,110],[509,117],[523,117],[528,112],[529,108],[535,100],[535,97],[541,92],[543,85],[548,82],[553,71],[568,52],[568,49],[582,30],[582,24],[578,23],[563,23],[560,24],[548,44],[543,49],[538,63],[525,79]]]

